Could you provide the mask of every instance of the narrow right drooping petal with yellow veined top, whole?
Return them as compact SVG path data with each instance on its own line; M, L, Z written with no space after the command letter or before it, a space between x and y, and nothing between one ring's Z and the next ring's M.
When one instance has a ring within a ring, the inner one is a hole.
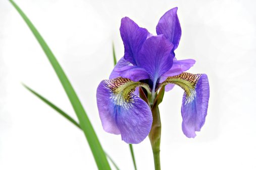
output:
M194 138L195 131L200 131L206 121L210 97L208 77L206 74L183 72L168 77L160 88L167 83L176 84L185 91L181 106L182 131L188 138Z

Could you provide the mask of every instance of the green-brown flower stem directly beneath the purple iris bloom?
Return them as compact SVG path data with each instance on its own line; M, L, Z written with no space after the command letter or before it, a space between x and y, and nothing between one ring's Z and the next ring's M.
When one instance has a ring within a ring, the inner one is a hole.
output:
M155 170L160 170L161 169L161 164L160 164L161 120L160 120L158 106L157 107L153 106L151 108L151 111L153 116L153 122L152 122L151 130L148 134L148 138L150 140L152 151L153 151Z

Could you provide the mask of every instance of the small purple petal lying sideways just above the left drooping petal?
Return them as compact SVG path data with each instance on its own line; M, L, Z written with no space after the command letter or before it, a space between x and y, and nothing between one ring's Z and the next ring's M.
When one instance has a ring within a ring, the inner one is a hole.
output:
M129 65L122 68L116 68L114 69L114 71L117 72L123 78L129 78L135 82L141 79L150 78L148 72L144 68L136 65Z

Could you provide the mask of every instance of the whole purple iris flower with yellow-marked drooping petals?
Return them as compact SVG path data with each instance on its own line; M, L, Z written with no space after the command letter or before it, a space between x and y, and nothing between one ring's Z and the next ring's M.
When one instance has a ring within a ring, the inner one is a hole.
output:
M177 7L166 12L157 25L157 36L140 28L128 17L121 20L120 34L124 43L124 56L113 69L110 79L97 88L99 117L106 132L121 134L126 143L140 143L150 132L151 107L158 91L175 85L185 92L181 115L182 131L196 136L203 126L209 101L209 82L206 74L191 74L188 70L195 60L177 60L181 27ZM138 96L141 88L148 101Z

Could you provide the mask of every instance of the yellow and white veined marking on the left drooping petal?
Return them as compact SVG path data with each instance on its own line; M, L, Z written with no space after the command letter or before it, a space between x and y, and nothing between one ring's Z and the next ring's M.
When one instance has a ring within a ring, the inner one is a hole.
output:
M104 81L104 86L110 91L110 100L117 105L129 109L134 103L134 95L132 92L135 88L142 86L148 88L148 85L142 82L134 82L128 78L117 77Z

